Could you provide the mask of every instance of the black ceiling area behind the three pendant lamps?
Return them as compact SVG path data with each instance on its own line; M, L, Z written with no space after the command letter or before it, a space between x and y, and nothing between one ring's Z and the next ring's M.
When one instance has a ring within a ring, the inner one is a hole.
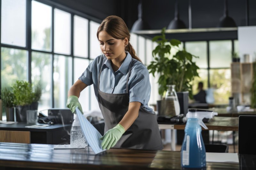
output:
M88 14L99 21L109 15L118 15L124 19L129 29L138 19L139 0L51 0L69 8ZM178 0L180 19L189 27L188 6L189 0ZM190 0L191 28L214 28L224 13L224 0ZM237 26L246 26L246 10L248 10L248 26L256 25L255 0L228 0L228 14ZM246 5L248 3L248 8ZM168 26L174 18L175 0L142 0L143 20L148 22L151 30L159 30ZM142 34L154 36L154 34ZM186 41L205 39L237 39L237 32L220 33L176 33L173 38Z

